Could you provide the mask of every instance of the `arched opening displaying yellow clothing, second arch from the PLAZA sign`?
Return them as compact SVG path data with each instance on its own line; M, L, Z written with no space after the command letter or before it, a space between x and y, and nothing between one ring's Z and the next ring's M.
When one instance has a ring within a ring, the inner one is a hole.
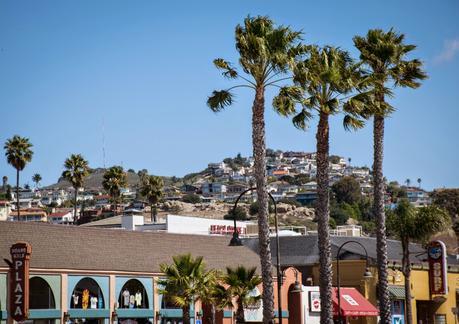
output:
M100 309L104 307L104 296L97 282L87 277L78 281L72 292L70 308Z

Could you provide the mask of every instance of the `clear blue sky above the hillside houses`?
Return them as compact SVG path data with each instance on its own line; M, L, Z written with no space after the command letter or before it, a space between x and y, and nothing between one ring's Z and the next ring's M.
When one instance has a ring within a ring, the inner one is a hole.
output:
M65 158L82 153L93 167L122 164L182 176L238 152L251 154L252 93L219 114L206 107L229 85L213 67L237 62L234 27L269 15L357 56L352 37L396 30L418 45L429 79L396 91L386 122L387 178L459 187L459 2L443 1L17 1L0 2L0 143L29 137L34 157L21 184L38 172L57 180ZM316 121L301 132L276 115L267 97L267 146L314 151ZM104 131L103 131L104 129ZM371 123L345 132L331 123L331 153L371 166ZM3 156L3 154L2 154ZM14 169L0 158L0 175Z

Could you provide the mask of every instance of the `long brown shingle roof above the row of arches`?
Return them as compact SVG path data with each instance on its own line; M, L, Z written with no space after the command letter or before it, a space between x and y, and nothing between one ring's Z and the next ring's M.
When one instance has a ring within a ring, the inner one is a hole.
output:
M204 256L208 268L260 268L256 253L228 246L228 237L0 222L0 260L17 241L32 245L31 268L158 273L161 263L185 253Z

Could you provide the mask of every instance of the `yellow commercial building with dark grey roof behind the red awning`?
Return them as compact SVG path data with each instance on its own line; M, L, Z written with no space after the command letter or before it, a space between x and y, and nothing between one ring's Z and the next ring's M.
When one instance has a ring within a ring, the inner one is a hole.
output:
M337 284L336 258L340 246L349 241L340 253L340 282L342 287L355 288L371 304L377 305L377 268L376 268L376 239L373 237L344 237L331 236L331 254L333 261L333 283ZM258 239L244 239L244 245L258 252ZM365 250L372 278L364 278L367 267ZM392 320L394 324L405 323L405 287L401 272L402 247L399 241L388 240L389 259L389 293L391 295ZM271 241L273 262L276 262L276 244ZM448 256L445 264L445 282L447 291L444 294L431 293L429 264L427 251L424 247L411 244L411 304L413 323L457 323L459 309L459 263L456 256ZM319 284L319 246L316 235L280 237L280 263L282 268L295 267L302 274L305 286ZM308 289L303 289L304 291ZM308 300L303 292L302 303L306 307ZM308 314L303 307L303 318ZM309 306L307 306L309 307ZM306 315L305 315L306 314ZM316 314L317 315L317 314ZM309 322L308 322L309 323ZM314 323L314 322L311 322ZM376 317L361 317L351 319L350 323L376 324Z

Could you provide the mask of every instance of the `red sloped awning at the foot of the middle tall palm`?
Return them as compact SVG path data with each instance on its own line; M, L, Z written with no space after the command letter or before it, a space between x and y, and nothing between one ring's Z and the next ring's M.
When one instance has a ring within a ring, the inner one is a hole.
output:
M338 316L338 288L333 288L333 315ZM355 288L341 288L342 316L378 316L379 311Z

